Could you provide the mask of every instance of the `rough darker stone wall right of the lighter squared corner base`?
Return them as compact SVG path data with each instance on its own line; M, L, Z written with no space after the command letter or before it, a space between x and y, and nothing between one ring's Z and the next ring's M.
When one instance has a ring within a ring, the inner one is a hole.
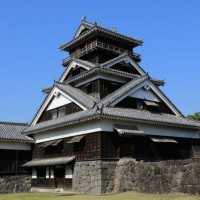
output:
M114 192L200 194L200 160L139 163L121 160L114 179Z

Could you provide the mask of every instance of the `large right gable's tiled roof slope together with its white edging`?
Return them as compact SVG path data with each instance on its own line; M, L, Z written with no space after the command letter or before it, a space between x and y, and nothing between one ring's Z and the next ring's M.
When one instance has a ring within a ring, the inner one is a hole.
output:
M143 76L136 80L130 81L126 85L122 86L114 93L108 95L104 99L102 99L99 104L103 104L104 106L115 106L123 99L130 95L137 94L138 90L141 88L145 88L146 90L150 90L152 94L154 94L160 101L164 102L165 105L176 115L183 116L181 112L170 102L170 100L148 79L147 76ZM149 96L150 98L150 96Z

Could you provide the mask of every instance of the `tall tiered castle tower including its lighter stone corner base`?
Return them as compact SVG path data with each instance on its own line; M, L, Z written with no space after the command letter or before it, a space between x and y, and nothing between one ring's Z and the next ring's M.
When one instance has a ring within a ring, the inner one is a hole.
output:
M184 117L160 89L164 81L142 69L133 51L139 45L84 19L60 47L69 52L65 70L44 89L46 98L23 131L35 141L23 165L32 188L109 193L119 191L123 163L199 157L200 123Z

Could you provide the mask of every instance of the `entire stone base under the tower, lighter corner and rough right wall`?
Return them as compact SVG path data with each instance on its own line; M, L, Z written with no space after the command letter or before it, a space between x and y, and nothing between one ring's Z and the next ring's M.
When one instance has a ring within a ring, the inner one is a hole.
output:
M200 194L200 159L76 162L72 185L75 192L90 194L125 191Z

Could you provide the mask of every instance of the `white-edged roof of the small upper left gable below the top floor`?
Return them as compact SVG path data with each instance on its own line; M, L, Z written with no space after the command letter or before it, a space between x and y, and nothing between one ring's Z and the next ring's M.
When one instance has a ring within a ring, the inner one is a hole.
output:
M95 64L85 62L85 61L81 61L79 59L73 59L70 62L70 64L68 65L67 69L63 72L62 76L59 79L59 82L63 82L65 80L65 78L67 77L67 75L70 73L70 71L77 66L82 67L86 70L89 70L92 67L95 67Z

